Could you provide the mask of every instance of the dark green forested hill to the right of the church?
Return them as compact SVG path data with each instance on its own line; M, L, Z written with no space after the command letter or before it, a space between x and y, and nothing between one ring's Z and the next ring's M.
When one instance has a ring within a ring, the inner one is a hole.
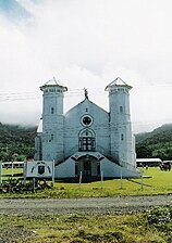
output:
M151 132L135 135L138 158L172 159L172 124L164 124Z

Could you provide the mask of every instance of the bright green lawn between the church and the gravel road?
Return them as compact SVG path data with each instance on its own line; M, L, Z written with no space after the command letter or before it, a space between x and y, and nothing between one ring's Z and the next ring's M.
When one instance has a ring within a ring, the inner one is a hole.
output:
M10 169L4 169L3 180L10 177ZM17 178L22 172L21 169L14 169L14 177ZM15 177L16 175L16 177ZM20 175L22 176L22 174ZM53 197L53 199L71 199L71 197L100 197L115 195L145 195L145 194L167 194L172 193L172 170L162 171L157 168L144 169L142 179L120 179L106 180L103 182L96 181L90 183L67 183L56 182L52 189L37 191L33 193L1 193L0 197Z

